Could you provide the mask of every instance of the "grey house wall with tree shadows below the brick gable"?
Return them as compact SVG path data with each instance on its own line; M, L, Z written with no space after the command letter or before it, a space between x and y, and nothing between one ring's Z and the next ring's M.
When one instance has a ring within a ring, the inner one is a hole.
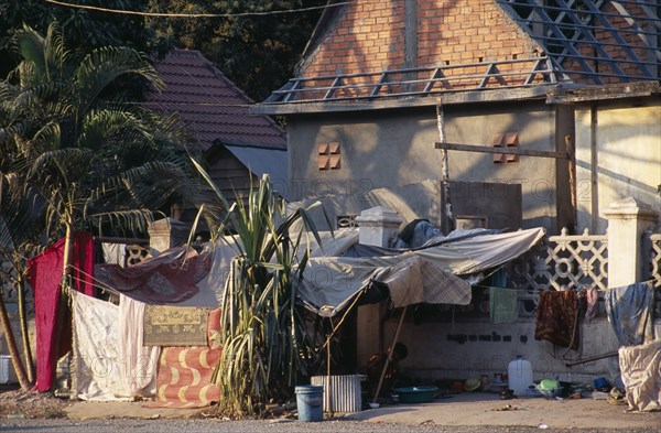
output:
M522 149L555 150L555 113L541 101L447 106L444 122L447 142L490 145L494 134L513 131ZM330 193L360 201L370 190L442 178L434 107L292 117L288 133L295 199ZM339 170L318 169L317 143L323 142L340 143ZM452 181L520 184L521 226L556 230L555 160L520 156L517 163L495 164L491 154L458 151L449 151L448 160Z

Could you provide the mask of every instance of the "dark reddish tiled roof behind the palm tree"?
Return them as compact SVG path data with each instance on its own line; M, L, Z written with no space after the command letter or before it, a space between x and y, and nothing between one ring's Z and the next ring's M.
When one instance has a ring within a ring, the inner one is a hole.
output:
M147 104L159 111L178 112L203 150L216 140L266 149L286 149L284 132L267 116L252 116L254 102L202 53L175 50L155 63L165 82L162 93L151 93Z

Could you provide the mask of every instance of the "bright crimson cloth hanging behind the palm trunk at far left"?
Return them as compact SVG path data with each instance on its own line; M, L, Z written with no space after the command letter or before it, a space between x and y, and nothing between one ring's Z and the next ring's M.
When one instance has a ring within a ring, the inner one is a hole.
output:
M59 282L64 267L64 243L61 239L50 249L29 260L30 283L34 290L36 327L36 385L34 390L46 392L53 386L57 359L72 346L72 323L68 305L61 302ZM93 295L93 238L90 234L75 235L73 255L74 288Z

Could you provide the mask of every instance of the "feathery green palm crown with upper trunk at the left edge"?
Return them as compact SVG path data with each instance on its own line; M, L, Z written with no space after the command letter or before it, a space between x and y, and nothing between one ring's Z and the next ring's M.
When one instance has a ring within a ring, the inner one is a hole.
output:
M181 123L118 91L127 77L163 87L143 54L104 47L77 58L57 23L45 36L24 28L15 46L22 62L0 80L0 199L28 199L31 212L0 215L6 225L40 219L42 241L66 237L63 281L77 229L143 232L175 195L202 201Z

